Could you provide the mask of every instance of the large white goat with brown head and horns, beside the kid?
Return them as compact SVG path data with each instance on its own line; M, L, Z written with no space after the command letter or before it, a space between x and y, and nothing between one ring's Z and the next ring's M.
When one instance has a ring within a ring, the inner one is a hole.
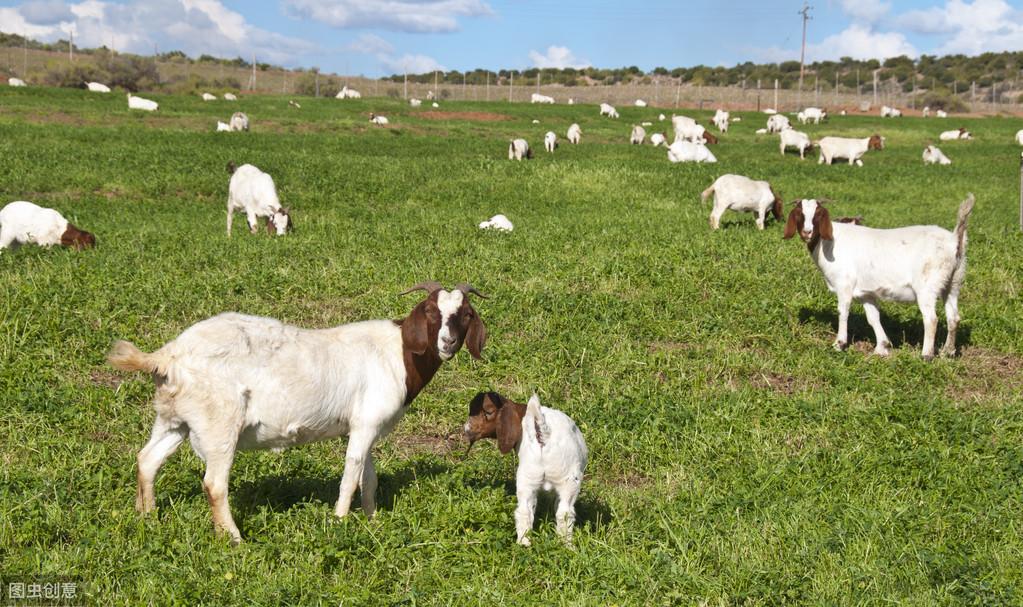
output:
M122 371L152 374L157 420L138 453L135 508L155 506L160 467L189 438L206 463L203 488L217 528L241 541L227 501L238 449L285 447L348 435L335 514L344 517L355 489L362 510L376 508L372 447L462 344L479 358L483 320L469 302L470 285L429 296L401 320L367 320L307 330L273 318L224 313L197 322L155 352L114 344L107 360Z

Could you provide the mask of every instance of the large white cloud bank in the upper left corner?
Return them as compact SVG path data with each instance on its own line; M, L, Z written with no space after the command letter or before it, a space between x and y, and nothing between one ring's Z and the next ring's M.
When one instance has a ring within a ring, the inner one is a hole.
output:
M315 47L249 24L219 0L148 0L121 4L101 0L26 2L15 8L0 8L0 29L26 33L52 41L73 30L82 46L108 46L119 51L150 53L180 49L197 55L250 56L273 62L287 62ZM61 16L58 24L52 19Z

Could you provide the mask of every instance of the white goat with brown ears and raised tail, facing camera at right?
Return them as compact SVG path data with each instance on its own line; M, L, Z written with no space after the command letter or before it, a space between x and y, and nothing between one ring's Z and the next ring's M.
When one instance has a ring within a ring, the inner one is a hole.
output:
M848 345L849 305L862 302L866 321L877 339L875 354L886 356L891 343L881 327L879 301L916 301L924 316L925 360L934 357L938 299L945 303L948 337L942 355L955 354L959 292L966 275L966 228L974 198L960 206L955 231L936 225L875 229L852 223L833 223L816 200L796 201L785 226L785 239L799 232L810 257L825 276L828 290L838 296L838 335L834 346Z

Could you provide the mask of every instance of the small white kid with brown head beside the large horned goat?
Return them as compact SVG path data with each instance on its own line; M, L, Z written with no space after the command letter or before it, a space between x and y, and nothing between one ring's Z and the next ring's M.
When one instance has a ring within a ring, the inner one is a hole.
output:
M529 546L533 513L540 489L558 493L558 534L572 544L575 501L579 496L589 453L582 432L572 418L540 406L533 394L527 404L511 401L496 392L480 392L469 404L464 426L469 446L483 438L496 438L497 448L507 453L518 447L515 527L519 544Z

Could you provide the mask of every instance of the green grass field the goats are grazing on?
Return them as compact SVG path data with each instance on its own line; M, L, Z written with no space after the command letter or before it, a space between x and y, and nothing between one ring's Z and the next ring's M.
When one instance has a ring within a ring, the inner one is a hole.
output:
M719 164L670 165L627 143L640 120L667 129L655 109L442 107L466 120L380 99L153 98L142 115L120 94L0 88L0 202L56 208L99 242L0 253L0 577L74 575L93 605L1023 604L1020 121L807 127L886 135L857 169L782 158L749 114ZM234 109L253 131L214 133ZM583 143L544 154L572 122ZM923 166L961 124L976 140ZM508 162L513 136L537 158ZM293 234L251 236L239 216L225 237L228 161L273 175ZM836 302L798 239L749 215L709 230L699 192L725 172L879 227L951 227L975 192L962 356L922 361L920 312L898 304L882 305L890 358L870 355L858 305L835 352ZM516 230L476 228L495 213ZM426 279L489 294L490 341L377 445L376 517L332 515L344 440L238 456L238 548L213 533L187 447L155 515L136 515L153 388L105 364L113 340L151 350L225 310L397 318L418 301L397 294ZM549 501L533 547L515 545L516 462L491 442L463 457L481 389L536 389L585 434L574 549Z

